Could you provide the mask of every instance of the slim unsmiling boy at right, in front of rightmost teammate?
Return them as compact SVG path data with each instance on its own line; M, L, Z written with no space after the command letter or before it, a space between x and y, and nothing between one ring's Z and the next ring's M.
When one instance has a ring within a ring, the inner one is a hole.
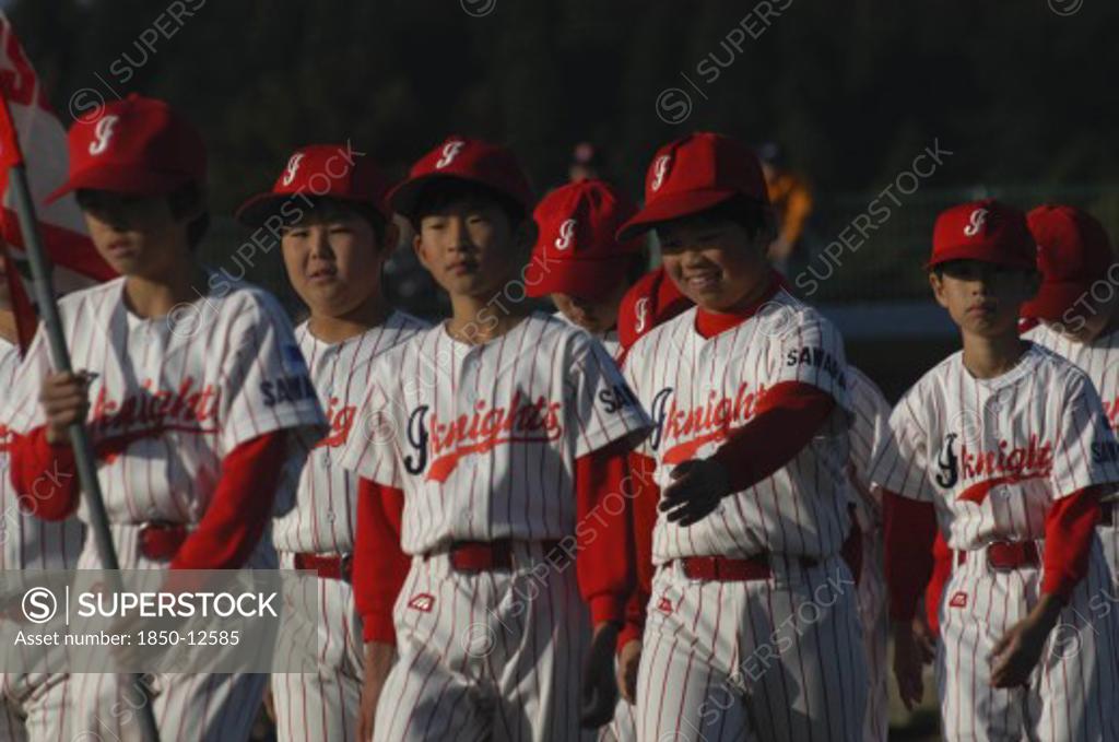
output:
M1018 337L1036 264L1016 209L940 215L929 280L963 349L899 402L872 476L906 706L923 692L912 619L938 525L952 550L937 658L949 740L1119 739L1112 619L1090 607L1110 586L1093 527L1119 443L1083 372Z

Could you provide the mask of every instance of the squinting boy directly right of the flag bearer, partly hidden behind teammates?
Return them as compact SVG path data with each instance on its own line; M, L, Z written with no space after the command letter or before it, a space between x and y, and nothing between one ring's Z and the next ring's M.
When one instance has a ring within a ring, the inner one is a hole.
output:
M427 327L393 310L380 291L397 238L386 191L368 157L312 144L288 158L271 191L237 210L250 227L280 217L288 280L310 310L295 339L330 424L300 475L295 507L272 526L280 567L319 575L286 595L294 613L286 614L276 650L285 665L299 666L302 657L317 673L272 676L280 740L358 734L365 651L350 588L358 481L333 459L354 434L373 359ZM308 627L317 640L308 641Z

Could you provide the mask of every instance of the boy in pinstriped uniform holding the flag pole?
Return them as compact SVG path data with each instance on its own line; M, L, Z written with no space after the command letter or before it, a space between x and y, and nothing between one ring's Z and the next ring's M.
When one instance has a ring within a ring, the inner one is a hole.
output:
M162 101L130 95L75 123L68 144L69 178L53 197L77 191L97 252L121 278L59 301L81 370L53 370L41 329L28 349L3 412L19 434L12 483L40 517L77 509L87 520L68 434L83 421L122 569L271 566L262 534L274 507L290 507L305 442L325 420L313 396L270 398L280 383L310 387L275 299L235 281L215 291L215 272L198 263L203 140ZM100 565L87 538L78 569ZM247 739L265 680L157 676L161 736ZM74 676L75 739L134 733L133 712L106 713L130 703L125 682Z

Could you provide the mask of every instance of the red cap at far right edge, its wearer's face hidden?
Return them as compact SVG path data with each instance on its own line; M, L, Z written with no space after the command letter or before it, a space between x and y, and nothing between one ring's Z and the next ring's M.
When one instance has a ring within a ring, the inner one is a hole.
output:
M1072 206L1038 206L1026 215L1037 242L1042 288L1023 306L1025 317L1059 320L1092 284L1106 279L1115 256L1107 229Z

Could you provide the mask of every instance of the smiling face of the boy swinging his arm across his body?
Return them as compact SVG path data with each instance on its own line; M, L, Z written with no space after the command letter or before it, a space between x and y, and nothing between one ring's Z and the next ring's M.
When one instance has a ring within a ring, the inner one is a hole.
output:
M665 271L700 309L733 310L769 280L764 229L753 237L728 219L678 219L657 227Z

